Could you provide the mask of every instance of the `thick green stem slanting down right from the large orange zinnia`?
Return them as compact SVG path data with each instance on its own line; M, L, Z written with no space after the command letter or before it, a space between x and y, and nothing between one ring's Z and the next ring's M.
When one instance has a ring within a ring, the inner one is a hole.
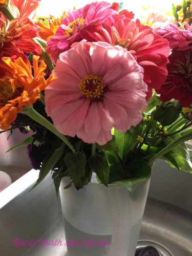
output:
M66 138L65 135L58 132L58 130L55 128L55 126L49 122L45 117L41 116L38 112L36 112L33 109L33 105L24 107L23 113L28 115L30 118L32 118L34 121L38 122L39 124L46 127L49 131L51 131L53 134L55 134L58 138L60 138L63 142L66 143L66 145L69 146L71 151L75 154L76 150L74 146L71 144L71 142Z

